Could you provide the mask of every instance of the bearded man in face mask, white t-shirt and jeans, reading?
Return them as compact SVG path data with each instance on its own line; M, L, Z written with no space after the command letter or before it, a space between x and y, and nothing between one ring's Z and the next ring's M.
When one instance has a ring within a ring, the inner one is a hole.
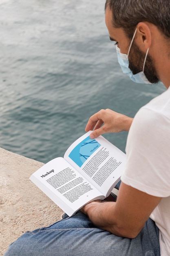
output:
M106 1L110 39L133 81L161 80L169 88L169 13L169 0ZM86 131L93 128L91 138L129 130L117 202L90 202L71 218L27 232L5 256L170 255L170 89L141 108L134 120L100 110Z

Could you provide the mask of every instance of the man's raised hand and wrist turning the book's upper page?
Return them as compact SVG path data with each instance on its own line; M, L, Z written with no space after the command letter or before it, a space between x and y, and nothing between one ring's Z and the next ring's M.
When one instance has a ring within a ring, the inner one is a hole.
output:
M94 129L90 136L91 139L94 139L107 132L129 131L132 121L133 118L131 117L127 117L110 109L102 109L90 117L85 131L88 132Z

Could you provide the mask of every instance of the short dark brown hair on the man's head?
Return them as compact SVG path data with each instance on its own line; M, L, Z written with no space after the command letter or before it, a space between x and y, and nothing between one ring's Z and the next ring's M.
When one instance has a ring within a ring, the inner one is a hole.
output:
M113 13L113 26L132 38L139 22L147 21L170 38L170 0L106 0Z

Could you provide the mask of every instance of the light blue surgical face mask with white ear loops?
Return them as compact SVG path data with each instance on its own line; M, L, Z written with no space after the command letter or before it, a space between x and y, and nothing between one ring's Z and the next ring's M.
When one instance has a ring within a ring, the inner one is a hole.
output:
M146 52L146 56L145 56L145 60L144 60L144 65L143 65L143 70L141 72L139 72L139 73L134 75L132 73L132 71L130 70L130 68L129 68L128 56L129 56L130 48L132 46L132 43L133 43L133 40L135 38L136 32L137 32L137 29L135 30L135 33L134 33L133 38L132 38L132 41L130 43L128 54L121 53L119 47L116 46L118 62L119 62L119 65L121 66L121 69L122 69L123 73L128 75L132 81L134 81L135 83L148 83L148 84L151 84L148 81L148 79L146 78L145 74L144 74L144 68L145 68L145 63L146 63L146 58L147 58L147 55L148 55L149 48L148 48L148 50Z

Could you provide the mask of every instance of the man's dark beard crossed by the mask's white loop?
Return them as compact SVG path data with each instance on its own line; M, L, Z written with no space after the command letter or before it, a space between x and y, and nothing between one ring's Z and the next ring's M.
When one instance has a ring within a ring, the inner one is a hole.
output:
M129 54L129 68L134 75L143 70L145 56L146 54L141 52L134 42ZM157 74L154 61L149 54L146 58L144 74L150 83L159 83L159 76Z

